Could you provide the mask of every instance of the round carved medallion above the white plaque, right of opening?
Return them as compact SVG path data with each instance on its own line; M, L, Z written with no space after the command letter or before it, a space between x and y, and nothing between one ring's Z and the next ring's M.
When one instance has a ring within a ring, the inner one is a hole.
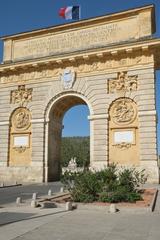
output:
M136 109L130 99L119 99L112 107L112 119L116 124L128 124L134 121Z

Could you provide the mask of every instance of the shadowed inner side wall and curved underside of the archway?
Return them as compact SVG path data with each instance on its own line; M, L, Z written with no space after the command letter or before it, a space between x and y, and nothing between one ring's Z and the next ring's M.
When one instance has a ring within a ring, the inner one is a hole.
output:
M63 120L67 111L78 105L88 107L88 104L83 98L74 95L67 95L58 99L50 108L48 125L47 181L56 181L60 178L60 173L62 171L61 145L64 127ZM73 124L73 122L71 124ZM80 128L80 126L77 125L77 128Z

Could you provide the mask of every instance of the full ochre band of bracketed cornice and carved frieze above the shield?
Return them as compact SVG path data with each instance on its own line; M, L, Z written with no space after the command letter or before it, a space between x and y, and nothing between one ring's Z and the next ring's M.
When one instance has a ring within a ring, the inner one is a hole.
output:
M150 39L79 54L1 64L0 84L57 79L65 68L74 69L77 76L91 76L128 68L155 67L158 66L158 49L160 39Z

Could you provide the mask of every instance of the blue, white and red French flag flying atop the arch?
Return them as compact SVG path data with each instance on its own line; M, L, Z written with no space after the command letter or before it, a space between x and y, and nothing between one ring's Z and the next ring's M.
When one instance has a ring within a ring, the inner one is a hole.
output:
M80 6L69 6L60 8L59 16L65 18L66 20L78 20L80 19Z

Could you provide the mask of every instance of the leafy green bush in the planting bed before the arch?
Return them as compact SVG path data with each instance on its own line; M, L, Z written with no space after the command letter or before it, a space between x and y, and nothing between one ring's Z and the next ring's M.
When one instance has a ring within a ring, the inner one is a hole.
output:
M119 170L115 164L101 171L65 172L62 182L75 202L135 202L142 200L138 191L147 176L135 168Z

